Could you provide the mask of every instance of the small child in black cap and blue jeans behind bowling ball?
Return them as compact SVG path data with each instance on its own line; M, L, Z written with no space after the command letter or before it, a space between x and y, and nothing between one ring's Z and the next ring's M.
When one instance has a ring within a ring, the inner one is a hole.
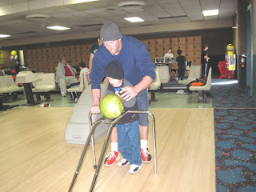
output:
M119 94L122 87L132 86L124 78L122 65L118 61L110 62L106 66L104 74L109 80L106 94L117 94L122 98ZM123 100L123 102L125 110L138 110L136 98L132 98L130 101ZM118 150L120 150L123 157L122 161L118 163L118 166L127 166L130 163L129 173L136 173L142 164L138 120L138 114L126 114L116 124L118 131Z

